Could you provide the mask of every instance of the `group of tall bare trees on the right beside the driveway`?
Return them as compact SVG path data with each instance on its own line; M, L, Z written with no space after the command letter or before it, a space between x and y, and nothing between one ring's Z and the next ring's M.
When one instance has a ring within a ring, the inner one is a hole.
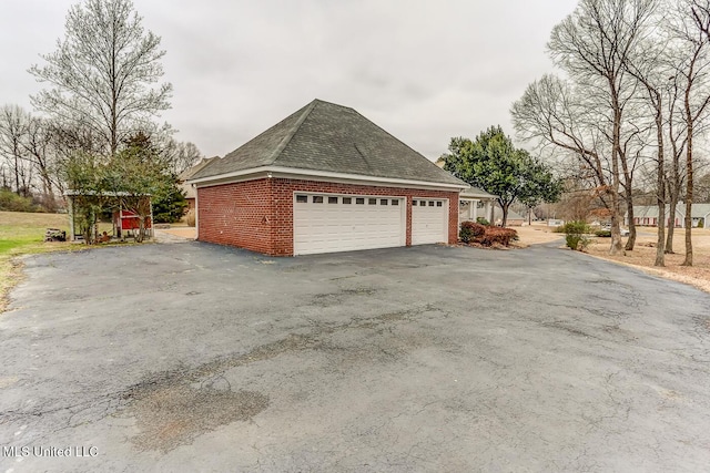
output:
M682 200L691 266L697 144L710 112L710 0L581 0L547 49L560 74L536 80L513 104L518 136L606 209L611 254L633 249L635 195L653 175L656 265L672 253Z

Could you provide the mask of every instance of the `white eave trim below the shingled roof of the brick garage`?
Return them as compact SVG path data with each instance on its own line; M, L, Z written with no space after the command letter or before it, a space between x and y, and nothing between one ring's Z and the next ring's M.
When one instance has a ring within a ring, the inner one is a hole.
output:
M343 184L361 184L369 186L414 187L424 189L449 189L462 192L466 185L433 183L427 181L399 179L395 177L365 176L362 174L332 173L328 171L296 169L282 166L261 166L251 169L236 171L216 176L187 179L189 184L203 184L201 187L231 184L240 181L256 179L261 177L283 177L310 181L325 181Z

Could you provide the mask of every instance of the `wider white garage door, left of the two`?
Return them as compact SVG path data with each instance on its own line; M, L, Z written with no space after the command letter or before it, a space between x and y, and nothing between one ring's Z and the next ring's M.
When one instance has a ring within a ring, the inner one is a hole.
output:
M402 197L295 193L293 253L404 246L404 203Z

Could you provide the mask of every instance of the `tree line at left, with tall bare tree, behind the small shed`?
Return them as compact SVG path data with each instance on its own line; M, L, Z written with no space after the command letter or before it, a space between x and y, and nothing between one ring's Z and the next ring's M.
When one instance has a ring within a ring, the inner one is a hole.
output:
M176 176L201 153L158 122L172 96L172 85L162 81L160 43L130 0L71 7L57 50L29 69L43 85L30 97L34 111L0 107L0 186L49 210L62 205L67 191L176 197ZM135 173L120 165L129 162L142 166L138 187L126 178ZM109 182L105 175L121 175L116 168L124 178L99 188Z

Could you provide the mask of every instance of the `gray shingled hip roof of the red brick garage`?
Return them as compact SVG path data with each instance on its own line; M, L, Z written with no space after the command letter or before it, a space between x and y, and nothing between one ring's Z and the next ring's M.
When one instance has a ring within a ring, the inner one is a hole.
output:
M468 185L355 110L314 100L191 176L200 179L262 166Z

